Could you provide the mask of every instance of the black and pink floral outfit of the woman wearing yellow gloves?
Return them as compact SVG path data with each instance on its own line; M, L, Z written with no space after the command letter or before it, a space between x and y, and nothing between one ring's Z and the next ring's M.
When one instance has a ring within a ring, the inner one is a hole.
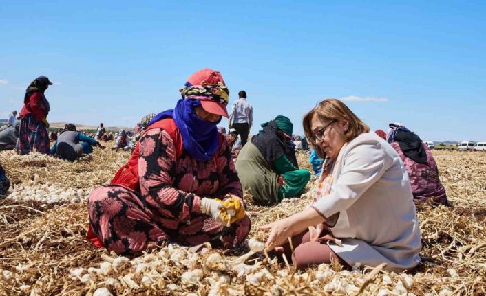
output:
M193 159L165 131L147 130L140 138L140 192L119 185L97 187L88 199L89 223L109 251L136 253L149 244L178 242L237 247L249 234L247 216L230 227L200 213L203 197L242 198L231 147L220 141L209 161Z

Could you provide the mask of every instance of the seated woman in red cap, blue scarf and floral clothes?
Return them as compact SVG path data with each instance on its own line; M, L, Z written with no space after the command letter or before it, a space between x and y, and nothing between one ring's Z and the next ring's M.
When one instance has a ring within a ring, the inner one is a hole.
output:
M233 248L249 234L231 148L216 127L228 117L224 80L202 69L181 91L176 109L152 119L112 184L89 196L95 245L116 253L164 242Z

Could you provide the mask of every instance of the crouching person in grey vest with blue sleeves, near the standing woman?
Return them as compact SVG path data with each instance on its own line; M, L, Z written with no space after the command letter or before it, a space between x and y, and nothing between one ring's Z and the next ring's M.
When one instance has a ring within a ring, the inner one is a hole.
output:
M74 161L83 154L92 153L93 146L105 148L92 137L77 132L74 124L66 124L57 141L52 145L50 152L51 155L61 159Z

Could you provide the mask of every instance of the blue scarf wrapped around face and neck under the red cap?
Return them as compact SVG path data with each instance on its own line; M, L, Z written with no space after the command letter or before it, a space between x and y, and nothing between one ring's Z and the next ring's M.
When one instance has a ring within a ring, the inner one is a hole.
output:
M198 115L194 109L201 106L200 100L181 99L176 109L169 109L158 113L151 120L149 126L159 120L172 118L182 135L182 144L191 157L200 161L212 159L218 150L218 122L209 122Z

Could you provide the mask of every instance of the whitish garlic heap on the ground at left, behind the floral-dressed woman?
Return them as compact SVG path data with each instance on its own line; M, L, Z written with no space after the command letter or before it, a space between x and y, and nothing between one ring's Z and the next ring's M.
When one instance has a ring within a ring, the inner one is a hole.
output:
M13 185L8 199L17 203L25 201L39 201L51 203L79 203L87 200L90 190L66 188L60 184L39 183L39 175L34 174L34 181Z

